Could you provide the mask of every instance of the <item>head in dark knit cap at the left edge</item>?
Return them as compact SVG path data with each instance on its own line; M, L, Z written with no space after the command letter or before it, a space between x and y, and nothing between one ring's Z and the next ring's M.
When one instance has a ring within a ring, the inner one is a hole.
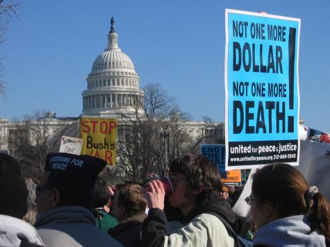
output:
M28 211L27 198L19 162L0 153L0 214L22 219Z

